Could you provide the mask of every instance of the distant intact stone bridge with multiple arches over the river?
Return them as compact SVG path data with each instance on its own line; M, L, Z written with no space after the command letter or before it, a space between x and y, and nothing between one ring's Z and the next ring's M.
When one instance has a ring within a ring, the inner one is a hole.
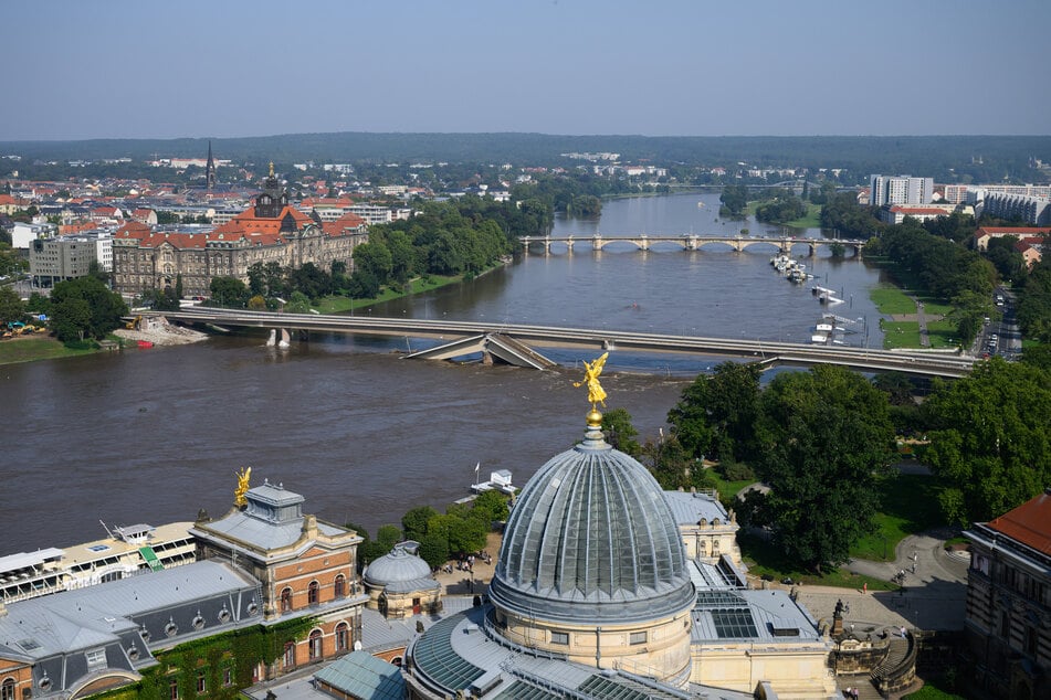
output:
M843 247L853 251L854 257L861 257L861 251L865 245L865 241L856 241L852 238L799 238L792 236L784 237L773 237L773 236L702 236L694 235L692 233L684 233L680 236L650 236L644 233L639 235L612 235L606 236L599 233L590 236L522 236L518 238L522 241L522 245L526 253L529 253L530 247L543 247L544 253L551 252L551 245L561 244L565 245L569 253L574 252L575 247L581 247L590 251L601 251L608 245L613 243L629 243L635 246L639 251L649 251L653 245L656 244L670 244L677 246L683 251L700 251L707 245L726 245L733 248L737 253L743 253L749 247L753 246L774 246L780 253L790 255L796 246L807 246L807 254L813 256L817 253L817 250L821 246L831 246L834 244L842 245Z

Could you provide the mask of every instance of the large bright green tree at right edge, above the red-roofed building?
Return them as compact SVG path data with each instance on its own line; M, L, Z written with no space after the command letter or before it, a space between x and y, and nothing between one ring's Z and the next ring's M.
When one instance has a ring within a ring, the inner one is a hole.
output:
M961 524L1002 515L1051 484L1051 374L992 358L923 404L922 458L948 482L945 516Z

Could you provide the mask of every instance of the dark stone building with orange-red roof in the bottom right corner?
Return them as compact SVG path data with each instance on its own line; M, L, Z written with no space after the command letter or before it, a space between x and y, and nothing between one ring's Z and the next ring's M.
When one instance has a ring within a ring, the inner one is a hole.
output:
M994 697L1051 697L1051 489L964 534L966 668Z

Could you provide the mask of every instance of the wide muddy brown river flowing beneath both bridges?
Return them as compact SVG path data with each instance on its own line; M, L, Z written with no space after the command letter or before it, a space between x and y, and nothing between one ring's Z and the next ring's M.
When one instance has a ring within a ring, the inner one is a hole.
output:
M554 233L765 229L716 221L717 212L717 194L617 200L599 221L559 220ZM775 274L773 248L658 248L530 254L364 312L800 342L822 310L806 286ZM879 271L827 253L807 265L842 289L837 312L865 319L858 327L866 322L877 346L866 291ZM483 478L506 468L521 486L580 438L588 406L571 385L582 374L574 365L593 352L544 349L566 364L555 372L392 352L419 342L318 336L280 353L262 337L232 336L0 367L0 555L103 537L98 520L221 515L243 466L253 484L266 478L303 494L305 512L375 534L413 506L442 509L465 496L477 463ZM642 436L655 437L685 382L715 361L613 352L603 374L610 407L627 409Z

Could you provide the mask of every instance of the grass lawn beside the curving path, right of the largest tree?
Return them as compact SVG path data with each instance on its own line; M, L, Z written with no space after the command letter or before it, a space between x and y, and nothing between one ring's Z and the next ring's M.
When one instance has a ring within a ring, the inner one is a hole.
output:
M934 477L901 474L882 485L883 507L875 513L876 532L850 550L855 559L893 561L894 548L907 534L944 524Z

